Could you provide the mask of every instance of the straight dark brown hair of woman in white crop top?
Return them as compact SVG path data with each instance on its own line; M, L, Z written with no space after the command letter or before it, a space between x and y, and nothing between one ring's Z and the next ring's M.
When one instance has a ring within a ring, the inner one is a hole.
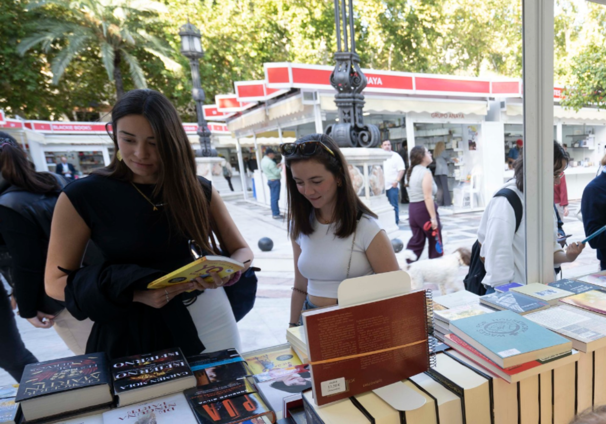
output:
M301 234L308 236L313 233L311 227L311 213L314 208L305 199L297 188L293 172L290 169L292 164L301 161L316 161L324 165L327 171L330 171L335 176L336 181L341 181L341 185L337 185L337 198L335 202L335 210L333 211L332 221L335 223L335 236L344 239L349 237L356 230L356 220L358 212L377 217L353 190L351 177L347 167L347 161L339 146L330 137L324 134L309 134L296 141L297 144L306 141L319 141L335 153L335 156L328 153L324 148L317 148L316 153L312 156L301 156L299 151L293 156L288 156L286 162L286 193L288 202L288 234L292 240L298 239Z

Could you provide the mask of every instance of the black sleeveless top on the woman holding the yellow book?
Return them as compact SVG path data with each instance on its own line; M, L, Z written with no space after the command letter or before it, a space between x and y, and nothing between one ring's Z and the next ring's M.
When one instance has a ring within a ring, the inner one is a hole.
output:
M211 182L198 177L210 203ZM153 203L153 184L136 184ZM192 260L189 237L170 222L166 207L157 211L130 182L91 175L71 182L64 193L91 230L91 239L110 263L132 263L166 273ZM177 205L178 206L178 205Z

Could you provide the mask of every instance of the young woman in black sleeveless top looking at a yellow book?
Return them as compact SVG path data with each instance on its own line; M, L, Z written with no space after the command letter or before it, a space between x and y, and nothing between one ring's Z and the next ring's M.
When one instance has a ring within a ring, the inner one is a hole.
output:
M59 196L47 293L59 300L67 296L76 317L95 322L89 353L102 349L118 357L175 346L185 354L239 349L222 287L239 274L145 290L148 282L191 262L189 240L218 253L211 226L224 242L221 250L248 261L247 266L253 259L221 197L209 181L196 177L193 150L175 107L156 91L129 91L113 108L111 124L116 154L110 165L72 182ZM88 238L107 262L78 270ZM188 330L192 321L197 337Z

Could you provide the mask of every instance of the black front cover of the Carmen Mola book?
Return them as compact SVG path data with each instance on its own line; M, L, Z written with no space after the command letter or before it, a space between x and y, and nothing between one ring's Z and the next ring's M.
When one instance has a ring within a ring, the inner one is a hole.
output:
M181 349L127 356L112 361L115 394L193 376Z

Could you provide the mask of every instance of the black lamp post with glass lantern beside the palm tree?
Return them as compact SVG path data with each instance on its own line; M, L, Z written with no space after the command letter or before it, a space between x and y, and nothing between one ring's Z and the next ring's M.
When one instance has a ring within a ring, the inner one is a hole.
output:
M191 96L196 102L196 114L198 114L200 150L196 150L196 156L217 156L217 151L210 147L210 130L208 130L208 125L204 119L204 111L202 110L206 95L200 85L200 70L198 66L198 60L204 58L204 50L202 50L202 43L200 42L200 31L190 24L189 19L187 19L187 24L179 28L179 35L181 36L181 53L190 59L191 82L193 82Z

